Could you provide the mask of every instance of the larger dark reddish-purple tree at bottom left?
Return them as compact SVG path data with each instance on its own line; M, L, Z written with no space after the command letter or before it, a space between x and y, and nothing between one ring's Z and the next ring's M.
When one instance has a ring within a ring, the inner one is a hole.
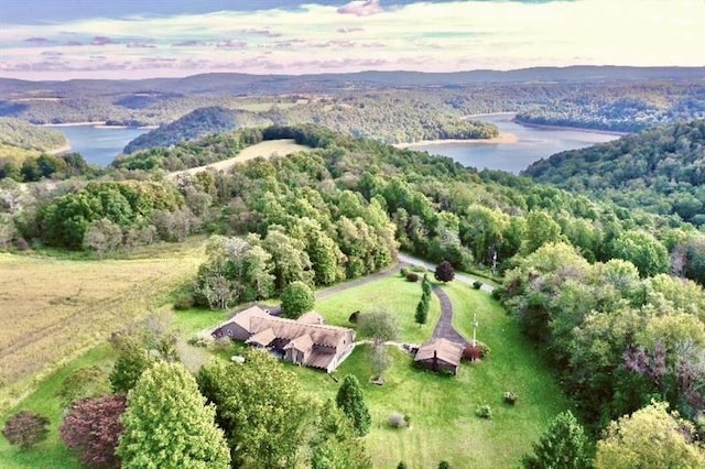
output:
M120 417L124 408L124 394L76 401L59 428L62 440L88 467L119 468L116 449L122 435Z

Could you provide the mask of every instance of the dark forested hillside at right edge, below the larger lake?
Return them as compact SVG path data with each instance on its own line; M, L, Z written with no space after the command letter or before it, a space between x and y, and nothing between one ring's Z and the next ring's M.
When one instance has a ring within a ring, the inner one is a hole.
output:
M525 175L628 208L705 223L705 120L662 126L558 153Z

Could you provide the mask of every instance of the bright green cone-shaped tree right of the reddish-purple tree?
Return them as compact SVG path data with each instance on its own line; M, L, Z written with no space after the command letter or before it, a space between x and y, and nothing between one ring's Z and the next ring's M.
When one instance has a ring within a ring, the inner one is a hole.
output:
M158 362L128 395L117 455L130 468L229 468L215 408L178 363Z

